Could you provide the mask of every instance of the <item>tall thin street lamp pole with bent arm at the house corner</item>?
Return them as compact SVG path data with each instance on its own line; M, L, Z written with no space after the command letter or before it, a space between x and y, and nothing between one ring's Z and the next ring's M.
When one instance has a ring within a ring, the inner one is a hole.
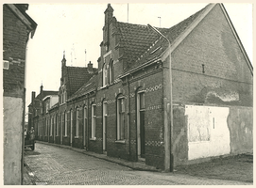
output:
M173 79L172 79L172 59L171 59L171 42L167 39L162 33L156 29L155 27L147 24L149 28L151 28L158 35L162 36L163 39L166 39L168 42L168 54L169 54L169 103L164 99L164 114L167 115L166 118L164 116L164 148L165 148L165 156L164 156L164 170L173 172L174 167L174 159L173 159ZM166 112L165 112L166 111ZM169 115L169 116L168 116Z

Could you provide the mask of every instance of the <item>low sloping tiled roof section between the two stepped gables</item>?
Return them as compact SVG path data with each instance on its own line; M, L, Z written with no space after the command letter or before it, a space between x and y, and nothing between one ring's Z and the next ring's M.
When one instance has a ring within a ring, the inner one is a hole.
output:
M76 93L74 93L68 101L72 101L74 99L77 99L86 93L94 90L96 88L96 80L97 80L97 75L94 75L87 83L85 83L83 86L81 86Z

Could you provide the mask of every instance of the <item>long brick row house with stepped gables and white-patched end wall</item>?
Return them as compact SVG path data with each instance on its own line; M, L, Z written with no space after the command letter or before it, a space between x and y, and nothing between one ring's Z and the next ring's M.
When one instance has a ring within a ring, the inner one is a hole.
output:
M72 77L63 57L59 102L48 123L34 121L39 140L166 171L252 151L253 69L223 4L171 28L118 22L110 4L104 13L98 69Z

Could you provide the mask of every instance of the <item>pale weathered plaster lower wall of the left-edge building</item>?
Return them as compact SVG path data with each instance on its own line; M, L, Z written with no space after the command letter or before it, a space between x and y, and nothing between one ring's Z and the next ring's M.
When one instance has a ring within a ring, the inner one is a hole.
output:
M4 97L4 184L22 182L23 100Z

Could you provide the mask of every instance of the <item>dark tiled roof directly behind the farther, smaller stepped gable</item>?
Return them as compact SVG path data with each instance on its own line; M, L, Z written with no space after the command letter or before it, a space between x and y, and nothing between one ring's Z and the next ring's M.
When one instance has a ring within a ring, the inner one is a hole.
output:
M67 76L68 76L68 95L72 96L77 89L82 86L84 83L86 83L90 77L91 74L88 73L87 68L82 67L66 67L67 68Z

